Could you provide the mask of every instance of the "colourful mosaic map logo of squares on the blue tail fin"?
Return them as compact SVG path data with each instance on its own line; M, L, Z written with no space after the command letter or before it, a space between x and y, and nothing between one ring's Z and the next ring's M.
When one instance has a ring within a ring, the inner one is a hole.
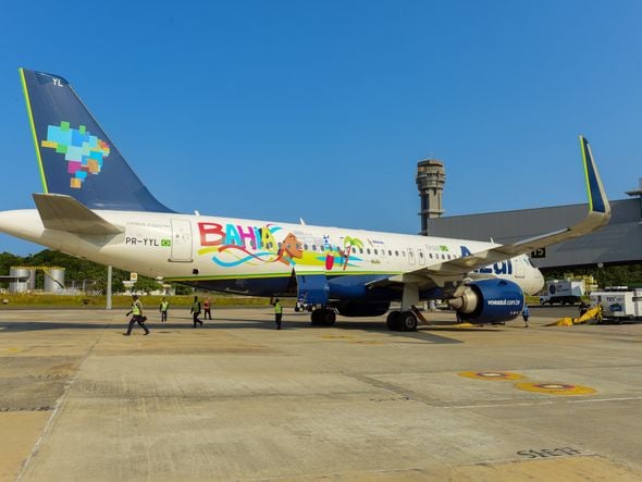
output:
M47 140L41 145L64 155L67 172L73 174L71 187L74 189L83 187L87 174L100 173L102 158L109 156L109 145L104 140L92 136L84 125L71 128L64 121L47 126Z

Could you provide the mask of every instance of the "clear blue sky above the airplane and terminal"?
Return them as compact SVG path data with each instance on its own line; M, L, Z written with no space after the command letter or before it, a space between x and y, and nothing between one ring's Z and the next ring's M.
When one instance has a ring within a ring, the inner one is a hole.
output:
M183 212L417 233L427 157L446 215L583 202L579 134L612 199L642 176L639 1L61 5L2 7L2 210L41 190L20 66Z

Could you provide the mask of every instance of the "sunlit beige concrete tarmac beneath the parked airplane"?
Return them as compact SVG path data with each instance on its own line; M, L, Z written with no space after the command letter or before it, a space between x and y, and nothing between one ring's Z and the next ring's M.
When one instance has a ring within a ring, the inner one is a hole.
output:
M0 480L642 480L642 324L561 311L395 333L214 307L125 337L124 310L1 310Z

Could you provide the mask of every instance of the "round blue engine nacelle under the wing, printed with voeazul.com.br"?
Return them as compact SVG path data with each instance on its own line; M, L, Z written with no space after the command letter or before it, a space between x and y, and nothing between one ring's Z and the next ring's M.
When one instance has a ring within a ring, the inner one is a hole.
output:
M523 309L521 288L507 280L481 280L468 283L457 298L448 300L462 320L493 323L515 320Z

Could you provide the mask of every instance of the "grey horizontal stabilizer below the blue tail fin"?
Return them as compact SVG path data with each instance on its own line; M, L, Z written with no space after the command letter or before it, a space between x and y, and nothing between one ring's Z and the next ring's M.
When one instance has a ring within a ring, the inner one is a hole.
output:
M71 196L34 194L42 225L48 230L86 235L119 234L124 230L100 218Z

